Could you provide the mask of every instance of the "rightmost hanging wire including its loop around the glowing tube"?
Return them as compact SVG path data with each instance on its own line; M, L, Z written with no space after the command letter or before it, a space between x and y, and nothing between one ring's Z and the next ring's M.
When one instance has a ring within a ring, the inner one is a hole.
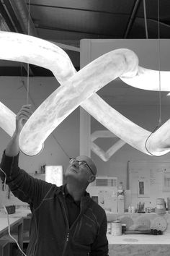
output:
M143 7L144 7L144 2L145 0L143 0ZM160 14L159 14L159 0L157 1L158 4L158 86L159 86L159 119L158 119L158 125L156 126L155 129L153 129L153 131L151 132L151 135L153 134L153 132L156 132L156 130L161 127L161 61L160 61L160 56L161 56L161 44L160 44ZM146 8L146 5L145 5ZM148 148L147 148L147 142L148 139L151 137L151 135L148 136L148 138L146 139L146 143L145 143L145 147L148 153L150 153L151 155L153 155L151 152L149 152ZM158 156L158 155L153 155L153 156Z

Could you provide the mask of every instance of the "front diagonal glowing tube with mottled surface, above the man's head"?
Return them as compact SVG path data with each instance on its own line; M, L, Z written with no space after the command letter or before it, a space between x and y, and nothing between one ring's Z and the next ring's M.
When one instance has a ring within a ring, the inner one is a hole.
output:
M125 62L128 55L130 65ZM136 72L135 60L138 59L130 50L111 51L74 74L37 108L24 125L20 135L22 151L27 155L39 153L48 135L83 101L120 74Z

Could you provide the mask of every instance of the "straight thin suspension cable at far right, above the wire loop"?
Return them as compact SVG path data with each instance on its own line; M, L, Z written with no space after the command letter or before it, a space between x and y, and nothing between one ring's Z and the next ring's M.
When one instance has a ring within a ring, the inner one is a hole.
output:
M159 120L161 125L161 44L160 44L160 14L159 14L159 0L158 0L158 85L159 85Z

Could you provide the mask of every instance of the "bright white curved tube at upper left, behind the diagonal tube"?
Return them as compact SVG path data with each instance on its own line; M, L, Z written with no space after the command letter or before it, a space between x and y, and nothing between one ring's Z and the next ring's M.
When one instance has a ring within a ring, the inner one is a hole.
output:
M30 35L0 31L0 59L21 61L50 69L61 84L76 74L60 47Z

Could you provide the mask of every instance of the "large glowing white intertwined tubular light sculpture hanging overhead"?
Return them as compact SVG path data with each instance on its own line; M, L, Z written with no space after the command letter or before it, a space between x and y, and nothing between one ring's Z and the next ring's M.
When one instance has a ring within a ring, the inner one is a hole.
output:
M50 69L61 83L24 125L19 145L25 154L39 153L50 133L79 105L117 137L143 153L164 155L170 151L169 121L151 135L151 132L126 119L96 94L97 90L116 77L120 77L129 85L138 81L136 87L140 89L159 90L158 78L152 83L150 80L154 79L155 74L158 77L158 71L139 67L138 57L133 51L110 51L76 72L68 55L48 41L29 35L0 32L0 46L0 59L45 67ZM170 72L161 72L161 77L162 74L170 79ZM145 85L143 77L146 79ZM165 80L161 81L161 90L169 91ZM3 129L7 130L6 127ZM145 147L149 135L151 137L148 139L147 148L150 153Z

